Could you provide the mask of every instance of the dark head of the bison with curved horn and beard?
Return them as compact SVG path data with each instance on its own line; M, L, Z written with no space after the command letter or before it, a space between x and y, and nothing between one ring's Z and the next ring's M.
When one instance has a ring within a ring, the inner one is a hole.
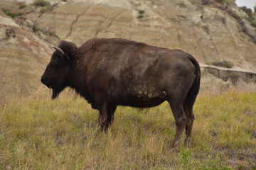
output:
M41 82L53 89L52 98L56 98L66 86L70 77L73 52L77 49L73 42L61 41L41 77Z

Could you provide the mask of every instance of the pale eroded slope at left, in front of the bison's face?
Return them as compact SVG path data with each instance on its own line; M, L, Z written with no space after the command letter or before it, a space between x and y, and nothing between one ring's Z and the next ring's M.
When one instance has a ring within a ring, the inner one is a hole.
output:
M0 98L5 100L38 89L40 75L53 50L33 32L2 16L0 35Z

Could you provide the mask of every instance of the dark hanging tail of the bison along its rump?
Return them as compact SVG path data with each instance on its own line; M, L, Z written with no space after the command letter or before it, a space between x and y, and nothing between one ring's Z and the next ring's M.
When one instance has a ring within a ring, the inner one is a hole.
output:
M200 71L200 65L198 64L198 62L196 61L196 59L193 56L189 55L188 59L192 62L192 64L196 68L196 70L195 70L196 79L194 80L194 82L191 86L191 89L188 91L188 94L183 103L183 106L186 107L186 109L188 109L188 111L189 111L189 114L191 116L193 116L192 109L193 109L193 104L196 101L196 96L198 95L198 92L200 89L201 71Z

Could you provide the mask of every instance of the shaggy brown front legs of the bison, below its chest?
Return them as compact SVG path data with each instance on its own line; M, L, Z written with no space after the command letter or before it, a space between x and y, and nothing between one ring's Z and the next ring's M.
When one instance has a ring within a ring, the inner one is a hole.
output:
M101 130L106 131L110 127L114 120L114 111L116 108L117 106L112 105L108 100L102 103L99 109L100 115L98 120Z

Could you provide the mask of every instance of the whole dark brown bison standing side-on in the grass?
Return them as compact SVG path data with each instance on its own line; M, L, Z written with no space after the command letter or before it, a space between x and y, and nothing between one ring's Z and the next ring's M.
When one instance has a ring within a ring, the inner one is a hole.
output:
M117 106L146 108L168 101L176 121L172 146L184 128L185 142L190 142L201 79L192 55L121 38L92 38L80 47L61 40L54 48L41 77L53 89L53 99L65 87L75 89L99 111L104 130L112 124Z

